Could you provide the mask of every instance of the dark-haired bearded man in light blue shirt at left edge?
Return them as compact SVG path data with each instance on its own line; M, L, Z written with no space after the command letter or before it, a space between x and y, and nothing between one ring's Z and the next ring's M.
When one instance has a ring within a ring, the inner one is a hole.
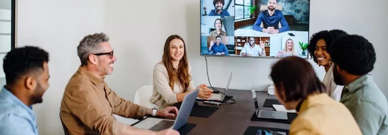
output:
M31 105L43 101L48 88L48 53L38 47L16 48L4 57L6 86L0 91L0 134L37 135Z

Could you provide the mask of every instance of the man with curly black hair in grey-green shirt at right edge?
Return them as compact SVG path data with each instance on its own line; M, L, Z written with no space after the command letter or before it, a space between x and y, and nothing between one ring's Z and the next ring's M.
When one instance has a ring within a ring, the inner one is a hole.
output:
M376 61L372 43L359 35L343 35L330 49L334 82L344 85L341 100L363 134L388 134L388 103L370 75Z

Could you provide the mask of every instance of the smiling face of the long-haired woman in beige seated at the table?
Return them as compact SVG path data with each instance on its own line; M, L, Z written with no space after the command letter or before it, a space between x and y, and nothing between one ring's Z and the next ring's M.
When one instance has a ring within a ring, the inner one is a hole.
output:
M170 56L172 60L179 61L184 55L184 43L180 39L173 39L170 42Z

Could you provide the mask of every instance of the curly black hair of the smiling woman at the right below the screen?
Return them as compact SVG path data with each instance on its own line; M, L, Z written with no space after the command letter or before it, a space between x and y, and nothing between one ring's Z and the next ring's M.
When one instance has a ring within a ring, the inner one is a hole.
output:
M343 30L340 30L340 29L334 29L334 30L330 30L330 31L322 30L322 31L319 31L317 33L312 34L312 36L310 38L310 43L307 46L307 50L308 50L308 53L310 54L311 58L314 60L314 62L318 63L318 60L316 59L316 57L314 55L316 43L318 42L318 40L324 39L326 42L326 50L330 50L330 48L332 47L333 41L335 39L337 39L338 37L340 37L341 35L346 35L346 34L348 34L348 33L346 33ZM329 51L328 51L328 53L330 54Z

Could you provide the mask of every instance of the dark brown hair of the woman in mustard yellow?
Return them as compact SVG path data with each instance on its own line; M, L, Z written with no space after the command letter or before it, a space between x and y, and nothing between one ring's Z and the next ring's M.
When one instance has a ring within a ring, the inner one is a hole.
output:
M279 97L285 102L306 99L315 93L326 93L326 87L315 74L311 64L298 56L287 56L280 59L272 66L272 81L277 88L284 88L285 97ZM282 93L277 89L278 93Z

